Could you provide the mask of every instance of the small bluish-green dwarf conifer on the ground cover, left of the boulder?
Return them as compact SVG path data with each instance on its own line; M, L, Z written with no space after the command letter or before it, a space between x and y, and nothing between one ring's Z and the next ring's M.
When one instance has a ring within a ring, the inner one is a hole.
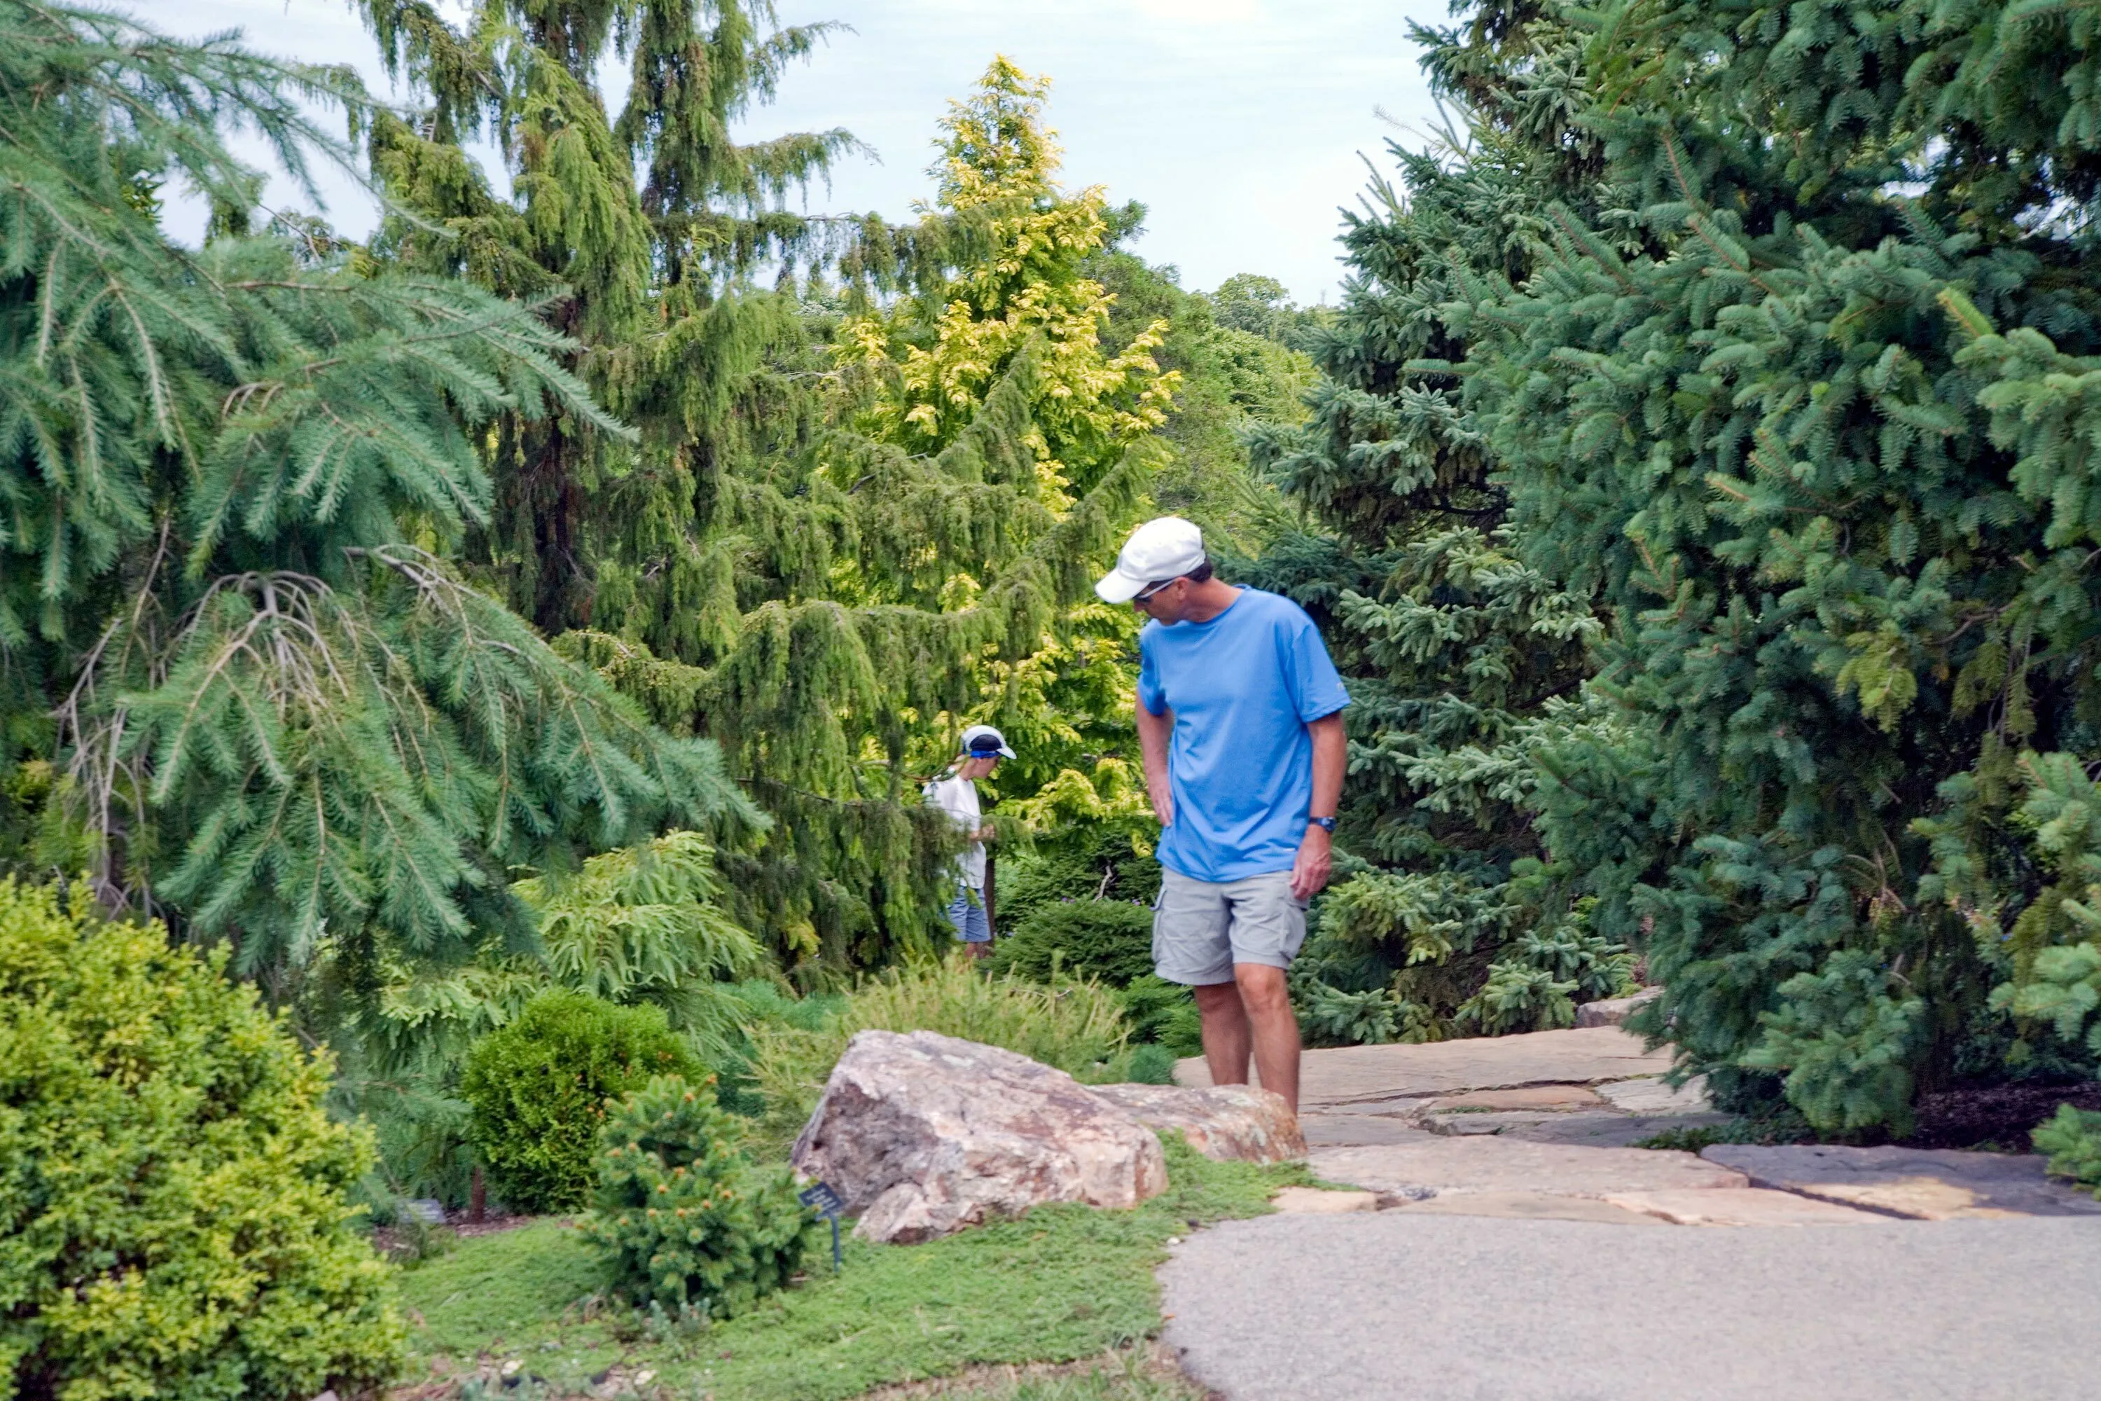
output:
M754 1168L712 1088L679 1075L628 1094L599 1138L586 1235L635 1304L727 1317L773 1294L809 1246L786 1168Z

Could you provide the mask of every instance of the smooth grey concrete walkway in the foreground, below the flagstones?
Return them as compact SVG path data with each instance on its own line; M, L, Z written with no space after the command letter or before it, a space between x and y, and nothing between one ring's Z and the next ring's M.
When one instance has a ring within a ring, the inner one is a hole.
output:
M1263 1216L1162 1269L1229 1401L2084 1401L2101 1220Z

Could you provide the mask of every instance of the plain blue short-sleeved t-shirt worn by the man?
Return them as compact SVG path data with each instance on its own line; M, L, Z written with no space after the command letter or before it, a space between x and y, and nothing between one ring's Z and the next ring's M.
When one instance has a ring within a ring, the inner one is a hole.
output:
M1305 609L1242 588L1210 622L1145 624L1139 704L1174 712L1160 863L1191 880L1288 872L1313 804L1307 725L1349 704Z

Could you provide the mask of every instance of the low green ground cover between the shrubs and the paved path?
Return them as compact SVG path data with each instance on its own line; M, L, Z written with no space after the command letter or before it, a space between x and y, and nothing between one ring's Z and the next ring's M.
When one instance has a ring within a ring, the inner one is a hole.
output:
M420 1323L420 1359L469 1367L477 1357L521 1359L550 1390L582 1388L618 1363L681 1397L714 1401L840 1401L887 1382L962 1372L977 1363L1057 1363L1099 1357L1160 1327L1153 1267L1166 1241L1193 1225L1258 1216L1269 1195L1311 1185L1303 1166L1214 1164L1166 1141L1168 1191L1128 1212L1046 1206L1019 1220L927 1246L847 1239L845 1269L826 1254L809 1279L758 1309L704 1330L649 1327L597 1309L597 1267L582 1233L540 1222L460 1241L401 1273ZM1122 1390L1105 1386L1122 1386ZM1174 1397L1145 1376L1040 1378L1032 1390L962 1395L1015 1401ZM1065 1390L1059 1390L1063 1386ZM1072 1390L1078 1386L1080 1390ZM1093 1390L1088 1390L1093 1388Z

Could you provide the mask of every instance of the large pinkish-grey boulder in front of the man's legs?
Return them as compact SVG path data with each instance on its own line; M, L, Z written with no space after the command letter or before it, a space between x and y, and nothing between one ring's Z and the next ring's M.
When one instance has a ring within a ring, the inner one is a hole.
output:
M872 1241L927 1241L1046 1201L1166 1189L1160 1138L1065 1071L935 1031L861 1031L792 1155Z

